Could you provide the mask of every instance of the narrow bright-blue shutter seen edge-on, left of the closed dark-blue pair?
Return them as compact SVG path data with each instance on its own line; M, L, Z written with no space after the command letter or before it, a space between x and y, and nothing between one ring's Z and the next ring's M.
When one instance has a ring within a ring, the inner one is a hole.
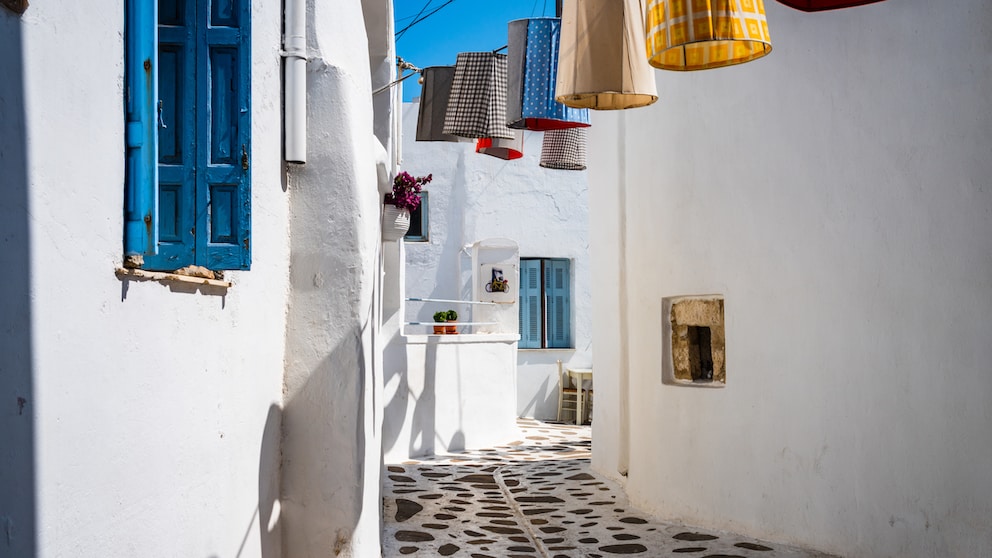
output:
M145 0L128 0L124 12L124 253L148 257L155 254L158 232L155 226L158 215L155 210L156 12L155 6Z

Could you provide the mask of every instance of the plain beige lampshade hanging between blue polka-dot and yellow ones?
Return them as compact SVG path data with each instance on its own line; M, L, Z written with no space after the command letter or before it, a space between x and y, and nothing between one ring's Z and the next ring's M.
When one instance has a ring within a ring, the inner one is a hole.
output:
M640 0L570 0L561 18L555 97L575 108L628 109L658 100L644 57Z

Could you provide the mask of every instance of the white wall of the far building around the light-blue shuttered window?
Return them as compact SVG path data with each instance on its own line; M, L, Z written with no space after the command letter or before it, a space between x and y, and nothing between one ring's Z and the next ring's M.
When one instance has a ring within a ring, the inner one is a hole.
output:
M434 180L426 188L430 242L406 243L407 296L470 299L471 250L462 249L485 238L515 240L521 257L571 259L575 349L521 349L517 356L517 412L555 418L555 361L592 361L587 173L541 167L539 133L526 133L524 157L515 161L475 153L474 143L414 141L418 107L403 107L401 169ZM411 319L430 321L437 308L417 310Z

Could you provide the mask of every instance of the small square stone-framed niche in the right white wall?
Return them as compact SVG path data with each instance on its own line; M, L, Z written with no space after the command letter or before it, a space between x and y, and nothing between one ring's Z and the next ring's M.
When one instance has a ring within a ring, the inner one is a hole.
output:
M662 381L666 384L723 387L727 383L727 343L723 296L662 299Z

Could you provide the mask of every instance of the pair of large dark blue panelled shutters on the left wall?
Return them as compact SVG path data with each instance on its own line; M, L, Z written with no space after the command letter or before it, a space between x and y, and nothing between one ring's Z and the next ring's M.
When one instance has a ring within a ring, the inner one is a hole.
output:
M251 265L249 5L158 2L158 253L147 269Z

